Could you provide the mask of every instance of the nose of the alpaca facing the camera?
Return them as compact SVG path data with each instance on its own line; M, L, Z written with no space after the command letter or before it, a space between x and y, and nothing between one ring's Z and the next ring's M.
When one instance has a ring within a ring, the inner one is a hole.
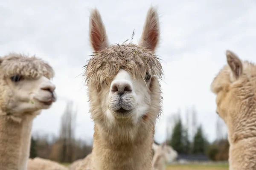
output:
M117 80L112 83L111 91L113 93L118 93L119 95L128 94L132 92L132 86L128 81Z

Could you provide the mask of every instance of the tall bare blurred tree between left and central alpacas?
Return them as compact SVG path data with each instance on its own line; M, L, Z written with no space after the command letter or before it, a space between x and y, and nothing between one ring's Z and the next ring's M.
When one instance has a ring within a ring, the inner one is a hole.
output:
M60 130L60 161L72 162L75 157L75 130L77 111L73 111L73 101L68 101L61 117Z

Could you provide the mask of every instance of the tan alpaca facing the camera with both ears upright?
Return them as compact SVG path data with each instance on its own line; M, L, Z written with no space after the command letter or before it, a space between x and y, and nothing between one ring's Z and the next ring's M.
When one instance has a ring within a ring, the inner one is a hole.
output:
M85 65L93 150L78 170L153 170L154 126L161 113L162 66L154 54L160 36L148 10L139 45L110 45L99 11L90 14L93 57Z

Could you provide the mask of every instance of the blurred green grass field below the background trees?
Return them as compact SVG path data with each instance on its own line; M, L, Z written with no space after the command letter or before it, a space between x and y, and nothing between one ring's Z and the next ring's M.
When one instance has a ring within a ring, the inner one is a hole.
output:
M63 163L68 166L69 164ZM170 165L166 170L228 170L228 165L200 165L200 164L186 164L186 165Z

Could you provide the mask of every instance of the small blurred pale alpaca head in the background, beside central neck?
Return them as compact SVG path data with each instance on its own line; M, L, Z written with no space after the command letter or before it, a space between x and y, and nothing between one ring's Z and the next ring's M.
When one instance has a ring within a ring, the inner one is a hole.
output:
M153 143L153 150L156 156L163 156L166 163L171 163L178 158L178 153L171 146L163 142L160 145Z

